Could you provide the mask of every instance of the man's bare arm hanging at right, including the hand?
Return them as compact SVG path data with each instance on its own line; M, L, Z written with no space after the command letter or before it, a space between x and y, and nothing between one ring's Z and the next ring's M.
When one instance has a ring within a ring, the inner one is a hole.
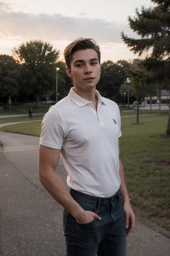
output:
M125 178L124 178L123 165L120 159L120 143L119 143L119 175L121 178L120 190L121 190L121 197L123 200L123 206L125 210L126 229L127 229L127 236L128 236L132 233L134 229L135 216L131 207L131 202L129 199L128 190L127 190Z

